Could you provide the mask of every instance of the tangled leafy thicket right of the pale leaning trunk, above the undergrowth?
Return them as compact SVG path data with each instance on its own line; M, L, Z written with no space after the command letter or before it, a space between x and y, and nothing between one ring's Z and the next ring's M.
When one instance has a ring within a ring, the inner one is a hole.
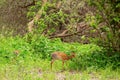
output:
M93 10L83 12L81 15L82 9L83 11L87 10L84 7ZM42 11L41 17L35 21L35 29L39 34L50 38L64 38L77 34L83 40L89 38L89 41L108 49L110 55L120 52L120 4L118 0L58 0L48 1L44 6L42 6L42 1L37 1L36 5L29 8L27 16L30 19L33 18L39 9ZM81 22L86 22L89 28L91 27L91 30L87 31L97 36L93 38L93 36L82 34L81 30L86 31L85 26L80 28L81 25L76 25ZM59 34L60 32L61 34Z

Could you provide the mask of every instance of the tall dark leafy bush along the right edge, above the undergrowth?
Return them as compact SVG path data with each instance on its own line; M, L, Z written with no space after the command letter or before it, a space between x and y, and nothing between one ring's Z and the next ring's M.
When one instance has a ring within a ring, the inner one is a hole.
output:
M88 3L96 8L96 15L87 15L86 21L99 33L97 44L105 47L108 51L120 52L119 1L88 0ZM100 26L100 24L104 25Z

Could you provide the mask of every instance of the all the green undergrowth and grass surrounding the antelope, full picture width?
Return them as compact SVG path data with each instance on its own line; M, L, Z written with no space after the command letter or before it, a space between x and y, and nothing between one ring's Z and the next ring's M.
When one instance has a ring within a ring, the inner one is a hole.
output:
M15 51L18 51L16 54ZM50 54L62 51L76 57L62 62L55 61L50 68ZM119 53L108 55L95 44L65 43L60 39L26 35L24 37L0 37L0 78L2 80L88 80L120 79ZM102 74L101 74L102 73ZM114 73L114 74L111 74Z

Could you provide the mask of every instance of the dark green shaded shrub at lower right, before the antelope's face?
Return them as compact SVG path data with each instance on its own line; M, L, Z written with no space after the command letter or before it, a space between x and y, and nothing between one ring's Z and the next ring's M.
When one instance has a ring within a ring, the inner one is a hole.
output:
M88 52L87 54L79 54L79 56L74 60L74 63L71 63L72 68L76 69L98 69L111 67L112 69L119 68L120 66L120 55L116 53L112 56L109 56L104 50L94 50Z

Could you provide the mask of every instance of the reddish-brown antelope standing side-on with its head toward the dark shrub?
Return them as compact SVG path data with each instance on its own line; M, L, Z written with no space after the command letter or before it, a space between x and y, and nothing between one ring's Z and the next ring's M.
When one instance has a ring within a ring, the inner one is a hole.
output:
M70 56L68 56L67 54L63 53L63 52L53 52L51 54L52 60L51 60L51 69L52 69L52 64L54 63L55 60L62 60L62 67L64 67L64 62L74 58L75 57L75 53L71 53Z

